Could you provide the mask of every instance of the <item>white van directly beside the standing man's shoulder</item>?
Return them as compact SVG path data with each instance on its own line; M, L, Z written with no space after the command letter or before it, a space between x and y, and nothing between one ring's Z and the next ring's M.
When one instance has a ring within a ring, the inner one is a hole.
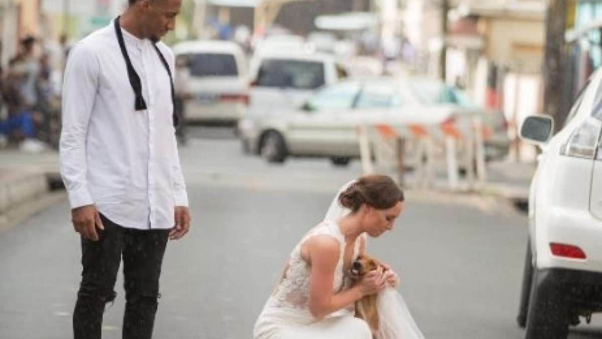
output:
M243 49L219 40L181 42L176 57L188 59L191 99L185 118L193 122L236 123L249 104L249 80Z

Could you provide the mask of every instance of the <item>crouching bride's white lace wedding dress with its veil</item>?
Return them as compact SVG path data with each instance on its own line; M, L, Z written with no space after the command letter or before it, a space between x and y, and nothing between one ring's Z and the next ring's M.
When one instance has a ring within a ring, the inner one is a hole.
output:
M265 303L253 331L254 339L373 339L368 324L342 309L317 320L308 308L310 267L301 257L301 246L315 235L328 235L339 242L340 256L335 268L332 291L348 288L343 272L345 238L337 221L349 213L338 203L338 195L352 182L346 183L335 195L323 223L305 235L294 248L281 281ZM362 235L365 238L365 235ZM355 241L353 260L359 255L361 237ZM379 331L376 339L424 339L401 294L388 287L377 296Z

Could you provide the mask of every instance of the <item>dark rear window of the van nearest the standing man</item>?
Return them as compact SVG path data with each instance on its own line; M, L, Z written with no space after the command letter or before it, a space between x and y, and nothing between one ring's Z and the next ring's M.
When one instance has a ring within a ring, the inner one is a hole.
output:
M188 54L188 68L193 77L232 77L238 75L236 59L226 53Z

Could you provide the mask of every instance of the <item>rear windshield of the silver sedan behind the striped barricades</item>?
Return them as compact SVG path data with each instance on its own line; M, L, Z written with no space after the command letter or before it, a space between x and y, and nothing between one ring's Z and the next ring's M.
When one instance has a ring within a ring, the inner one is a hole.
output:
M476 107L464 90L447 86L439 81L412 80L410 87L423 104L456 104L465 108Z

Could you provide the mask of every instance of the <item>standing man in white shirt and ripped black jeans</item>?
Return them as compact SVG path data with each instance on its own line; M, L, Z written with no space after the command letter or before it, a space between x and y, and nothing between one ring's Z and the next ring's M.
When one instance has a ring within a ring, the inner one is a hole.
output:
M81 235L75 339L101 338L123 257L123 338L151 338L167 239L190 214L173 127L173 30L181 0L129 0L122 16L69 54L61 174ZM167 68L169 64L169 68Z

